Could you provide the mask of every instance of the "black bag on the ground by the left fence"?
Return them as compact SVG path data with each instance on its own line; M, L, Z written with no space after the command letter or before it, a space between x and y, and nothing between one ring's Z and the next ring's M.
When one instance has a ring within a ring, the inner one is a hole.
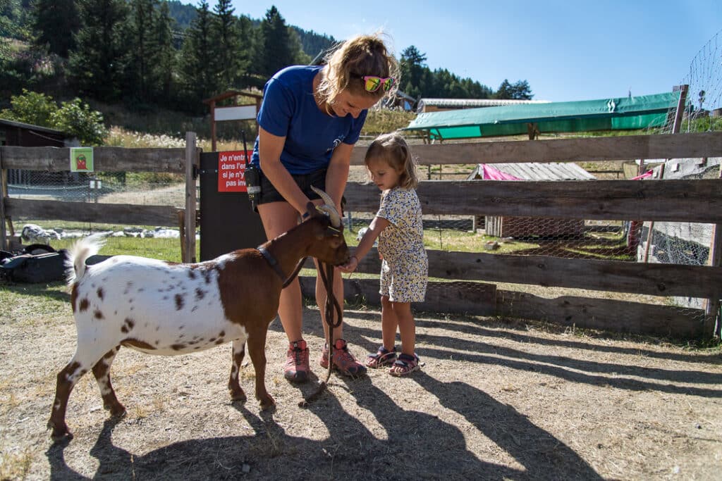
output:
M65 249L56 251L50 246L32 244L18 255L2 258L0 278L26 283L62 281L65 278L66 257Z

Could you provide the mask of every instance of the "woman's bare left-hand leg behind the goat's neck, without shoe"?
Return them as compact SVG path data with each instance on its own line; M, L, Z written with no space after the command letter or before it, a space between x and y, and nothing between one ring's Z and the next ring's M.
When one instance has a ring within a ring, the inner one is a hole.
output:
M261 222L264 224L268 239L278 237L285 231L292 229L298 221L297 211L287 202L261 204L258 206L258 214L261 216ZM290 343L303 338L303 305L298 278L295 278L292 283L281 291L278 315Z

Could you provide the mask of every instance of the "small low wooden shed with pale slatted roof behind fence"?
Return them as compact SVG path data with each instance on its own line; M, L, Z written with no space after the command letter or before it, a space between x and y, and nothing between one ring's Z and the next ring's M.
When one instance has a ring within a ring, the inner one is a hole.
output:
M467 180L596 180L572 162L521 162L510 164L478 164ZM482 227L481 216L474 219L475 228ZM580 237L583 219L539 219L538 217L484 216L487 235L495 237Z

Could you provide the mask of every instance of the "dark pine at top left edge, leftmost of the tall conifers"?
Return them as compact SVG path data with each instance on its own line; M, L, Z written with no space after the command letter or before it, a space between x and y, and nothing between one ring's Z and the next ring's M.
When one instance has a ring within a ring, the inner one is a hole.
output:
M75 48L74 34L80 28L74 0L35 0L32 30L36 45L48 45L48 51L68 58Z

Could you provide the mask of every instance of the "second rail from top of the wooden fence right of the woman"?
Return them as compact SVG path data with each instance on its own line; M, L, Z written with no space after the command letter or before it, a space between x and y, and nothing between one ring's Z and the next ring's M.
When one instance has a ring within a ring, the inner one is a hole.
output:
M417 193L425 214L722 222L718 179L422 181ZM349 182L344 195L349 212L378 210L375 185Z

